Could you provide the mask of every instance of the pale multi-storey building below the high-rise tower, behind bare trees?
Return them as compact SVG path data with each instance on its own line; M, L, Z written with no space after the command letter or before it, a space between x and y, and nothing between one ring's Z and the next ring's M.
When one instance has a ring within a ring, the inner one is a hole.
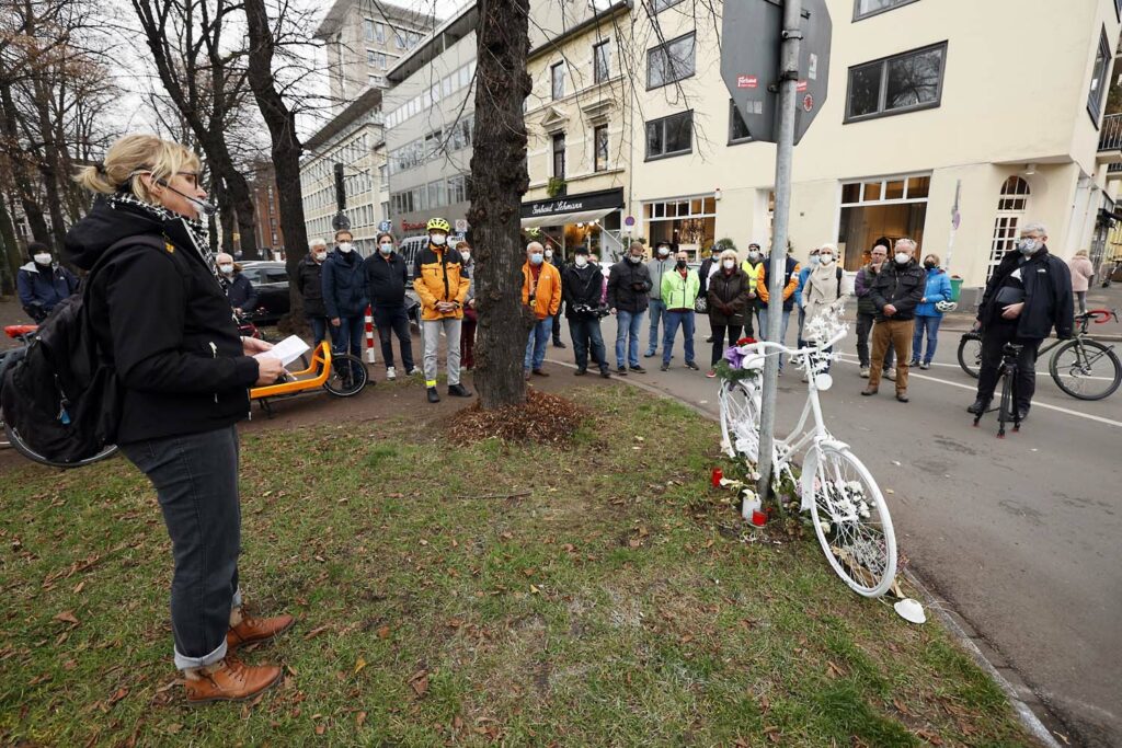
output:
M304 144L301 161L304 223L309 241L334 237L339 213L335 165L342 165L343 211L356 250L374 251L378 224L387 218L388 185L383 131L381 90L368 89Z

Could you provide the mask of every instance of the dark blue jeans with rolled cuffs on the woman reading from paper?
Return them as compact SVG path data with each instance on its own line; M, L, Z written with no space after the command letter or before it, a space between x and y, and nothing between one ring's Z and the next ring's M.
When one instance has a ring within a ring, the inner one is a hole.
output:
M241 604L238 430L134 442L121 452L151 481L172 538L175 666L213 665L226 657L230 609Z

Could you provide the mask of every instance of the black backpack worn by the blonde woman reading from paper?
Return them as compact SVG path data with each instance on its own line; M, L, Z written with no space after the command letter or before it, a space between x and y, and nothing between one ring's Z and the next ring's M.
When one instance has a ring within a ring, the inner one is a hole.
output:
M6 362L0 408L8 427L31 450L61 464L80 464L117 438L121 394L117 371L99 350L88 310L92 280L125 246L164 249L157 237L113 243L94 264L80 294L63 299L39 325L37 338ZM12 354L15 355L15 354Z

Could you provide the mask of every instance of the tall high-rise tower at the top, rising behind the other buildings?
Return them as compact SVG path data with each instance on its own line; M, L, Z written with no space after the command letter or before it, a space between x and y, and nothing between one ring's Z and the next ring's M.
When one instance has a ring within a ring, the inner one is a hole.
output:
M335 0L314 35L327 45L334 113L367 89L386 87L386 72L436 24L432 16L395 4Z

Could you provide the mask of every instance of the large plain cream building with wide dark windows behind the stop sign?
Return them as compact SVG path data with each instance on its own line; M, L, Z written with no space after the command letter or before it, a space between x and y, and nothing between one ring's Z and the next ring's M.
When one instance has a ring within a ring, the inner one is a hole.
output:
M980 286L1026 221L1047 224L1065 258L1100 233L1106 243L1107 167L1122 158L1100 149L1115 0L827 6L829 93L794 151L797 257L835 242L853 270L877 238L909 236ZM770 242L775 147L734 109L720 21L699 8L660 0L634 13L644 49L626 202L637 234L703 255L725 237L742 250ZM1039 44L1018 52L1028 38Z

